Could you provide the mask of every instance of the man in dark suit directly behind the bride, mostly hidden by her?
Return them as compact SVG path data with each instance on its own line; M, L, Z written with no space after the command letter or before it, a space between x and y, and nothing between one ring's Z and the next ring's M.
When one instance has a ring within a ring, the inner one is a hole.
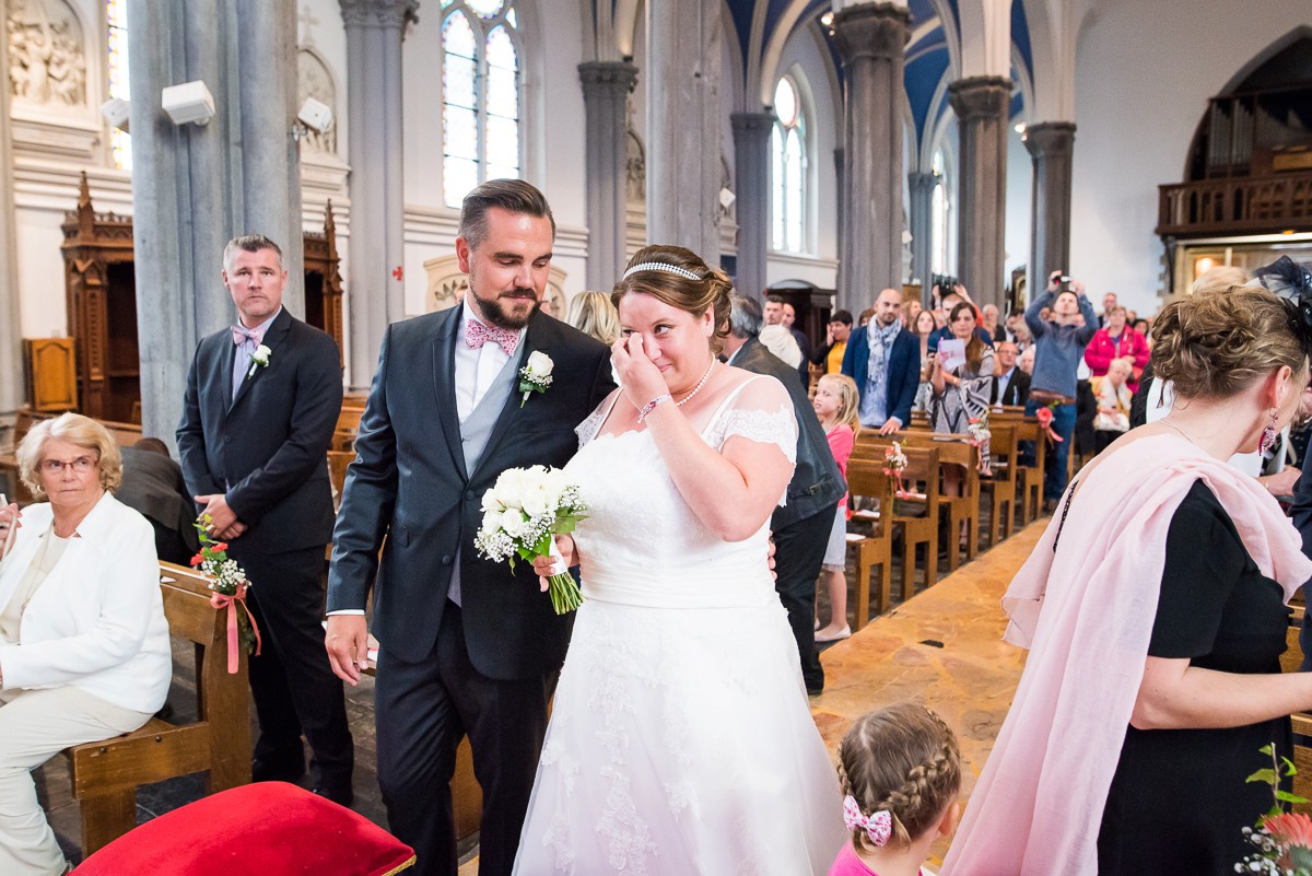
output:
M760 304L735 294L724 355L735 367L779 380L792 399L798 420L798 462L789 481L787 502L770 517L770 530L775 547L774 589L789 612L802 661L802 679L813 696L824 690L824 669L815 643L816 578L838 500L848 488L798 372L765 349L757 340L760 333Z

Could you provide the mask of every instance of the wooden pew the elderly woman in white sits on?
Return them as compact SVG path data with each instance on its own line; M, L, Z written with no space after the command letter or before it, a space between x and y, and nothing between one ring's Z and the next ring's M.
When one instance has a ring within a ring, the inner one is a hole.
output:
M188 724L152 719L133 733L64 750L81 804L83 856L136 826L138 786L201 771L209 772L207 793L251 782L247 657L228 674L227 610L210 606L210 590L192 569L160 563L160 572L169 632L195 647L199 716Z

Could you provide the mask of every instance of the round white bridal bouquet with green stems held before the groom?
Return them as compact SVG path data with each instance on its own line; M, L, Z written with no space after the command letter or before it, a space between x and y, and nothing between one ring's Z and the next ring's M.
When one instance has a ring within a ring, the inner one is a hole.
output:
M493 563L508 561L514 569L516 556L531 563L551 555L552 536L573 532L586 510L579 487L559 468L508 468L483 494L483 526L474 546L482 556ZM558 615L583 605L579 585L568 572L547 578L543 589L551 594L551 607Z

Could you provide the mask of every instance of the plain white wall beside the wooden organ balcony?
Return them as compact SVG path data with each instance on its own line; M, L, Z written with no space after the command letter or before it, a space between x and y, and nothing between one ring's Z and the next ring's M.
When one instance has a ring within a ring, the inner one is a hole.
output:
M1093 4L1076 59L1071 269L1096 300L1115 291L1140 313L1160 307L1157 186L1182 181L1207 98L1304 24L1307 0Z

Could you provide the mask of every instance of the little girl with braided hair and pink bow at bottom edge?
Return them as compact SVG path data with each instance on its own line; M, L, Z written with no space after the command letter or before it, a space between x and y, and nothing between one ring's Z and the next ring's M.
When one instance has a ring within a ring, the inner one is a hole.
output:
M920 866L960 816L962 757L938 715L899 703L861 717L838 745L851 842L829 876L925 876Z

